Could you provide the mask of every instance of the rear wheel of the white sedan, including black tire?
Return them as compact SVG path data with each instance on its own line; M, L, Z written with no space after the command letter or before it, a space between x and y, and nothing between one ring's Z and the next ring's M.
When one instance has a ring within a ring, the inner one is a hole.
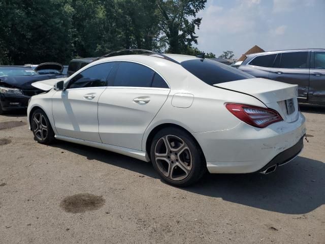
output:
M159 131L152 140L150 156L160 177L177 187L193 184L206 171L200 146L187 132L178 128Z

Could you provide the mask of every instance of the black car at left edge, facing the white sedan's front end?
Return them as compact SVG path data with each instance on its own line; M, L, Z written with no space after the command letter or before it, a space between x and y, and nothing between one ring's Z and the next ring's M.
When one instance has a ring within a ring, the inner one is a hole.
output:
M0 114L26 109L31 96L44 92L31 83L52 78L55 75L40 75L28 67L0 66Z

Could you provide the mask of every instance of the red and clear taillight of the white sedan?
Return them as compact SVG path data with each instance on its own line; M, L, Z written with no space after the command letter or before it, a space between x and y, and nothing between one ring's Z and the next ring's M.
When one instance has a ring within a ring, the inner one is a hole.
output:
M237 103L227 103L225 107L246 124L258 128L265 128L270 124L283 120L277 111L270 108Z

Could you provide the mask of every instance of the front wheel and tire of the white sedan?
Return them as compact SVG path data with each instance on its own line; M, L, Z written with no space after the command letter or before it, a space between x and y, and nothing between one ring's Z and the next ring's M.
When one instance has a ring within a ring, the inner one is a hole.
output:
M50 144L54 140L54 132L50 121L42 109L37 109L32 113L30 125L34 139L37 142Z

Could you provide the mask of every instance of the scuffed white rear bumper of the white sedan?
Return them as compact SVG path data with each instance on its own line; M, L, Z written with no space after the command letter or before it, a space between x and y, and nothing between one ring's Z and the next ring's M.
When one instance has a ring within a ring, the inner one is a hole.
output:
M210 173L252 173L268 168L271 162L281 165L297 156L305 133L305 117L299 113L293 123L281 121L263 129L239 123L230 130L193 136L201 145Z

